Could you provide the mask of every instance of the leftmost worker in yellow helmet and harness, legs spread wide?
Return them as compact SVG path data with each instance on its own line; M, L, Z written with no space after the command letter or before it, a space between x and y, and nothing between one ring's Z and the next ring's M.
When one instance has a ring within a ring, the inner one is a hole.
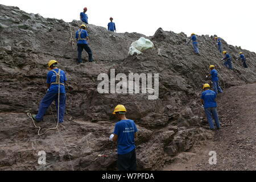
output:
M39 105L38 114L32 115L32 118L37 122L43 121L43 116L48 107L52 104L52 101L55 101L57 118L59 119L59 123L62 123L64 122L63 118L66 106L65 83L67 78L65 76L65 72L57 68L57 61L49 61L48 67L51 69L47 74L48 90Z

